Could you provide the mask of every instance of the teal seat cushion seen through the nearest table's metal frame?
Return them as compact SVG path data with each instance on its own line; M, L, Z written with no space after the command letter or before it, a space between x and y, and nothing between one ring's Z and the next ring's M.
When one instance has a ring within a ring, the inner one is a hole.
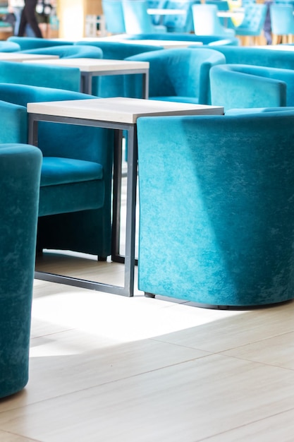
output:
M102 178L103 167L97 162L59 157L43 158L41 187Z

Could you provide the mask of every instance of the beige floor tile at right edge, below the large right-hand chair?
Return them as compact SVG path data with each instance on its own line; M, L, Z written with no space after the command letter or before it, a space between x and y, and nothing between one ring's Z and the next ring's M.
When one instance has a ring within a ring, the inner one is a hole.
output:
M294 331L294 302L252 311L216 311L215 321L187 328L159 340L207 352L223 352Z

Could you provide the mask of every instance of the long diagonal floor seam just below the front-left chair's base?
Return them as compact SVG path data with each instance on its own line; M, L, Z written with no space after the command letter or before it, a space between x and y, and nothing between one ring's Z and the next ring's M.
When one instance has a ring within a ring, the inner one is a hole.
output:
M8 410L2 410L2 411L0 411L0 415L2 413L13 412L15 410L25 409L25 408L31 407L33 405L42 404L42 402L48 402L48 401L56 400L56 399L59 399L59 398L66 398L67 396L75 395L76 393L81 393L82 391L92 390L93 388L99 388L99 387L102 387L102 386L107 386L107 385L110 385L111 383L118 383L118 382L121 382L121 381L126 381L126 380L128 380L130 378L137 378L138 376L143 376L145 374L153 373L154 371L160 371L160 370L168 369L169 367L172 367L172 366L186 364L187 362L192 362L192 361L195 361L195 360L198 360L198 359L204 359L204 357L209 357L209 356L212 356L212 354L207 354L207 355L204 355L202 357L194 357L194 358L186 359L185 361L176 362L175 364L169 364L169 365L166 365L166 366L158 367L157 369L142 371L141 373L133 374L131 376L125 376L123 378L113 379L112 381L106 381L106 382L102 382L102 383L93 384L92 386L89 386L87 388L80 388L80 389L73 390L73 391L68 392L68 393L52 396L52 397L47 398L47 399L36 400L36 401L30 402L30 403L26 403L24 405L19 405L18 407L9 408ZM1 430L1 426L0 426L0 430ZM2 429L2 430L5 431L4 429Z

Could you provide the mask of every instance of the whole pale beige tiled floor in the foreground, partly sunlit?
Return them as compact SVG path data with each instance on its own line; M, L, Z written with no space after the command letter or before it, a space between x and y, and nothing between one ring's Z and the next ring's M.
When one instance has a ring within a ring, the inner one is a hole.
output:
M35 281L1 442L293 441L294 303L252 311Z

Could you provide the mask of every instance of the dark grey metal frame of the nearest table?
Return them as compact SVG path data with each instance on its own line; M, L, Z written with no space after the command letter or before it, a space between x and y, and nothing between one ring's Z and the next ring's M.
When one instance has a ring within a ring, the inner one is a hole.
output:
M125 263L124 286L109 285L102 282L82 280L75 277L56 275L35 271L35 278L39 280L59 282L99 292L121 294L133 297L135 272L135 207L137 186L137 125L118 123L114 121L100 121L73 117L54 117L51 115L29 115L28 143L38 145L38 122L48 121L61 124L75 124L80 126L96 126L106 129L115 129L114 136L114 189L113 189L113 219L112 219L112 251L113 261ZM121 212L121 160L122 160L122 131L128 131L128 172L127 172L127 200L125 225L125 256L119 254L120 239L120 212Z

